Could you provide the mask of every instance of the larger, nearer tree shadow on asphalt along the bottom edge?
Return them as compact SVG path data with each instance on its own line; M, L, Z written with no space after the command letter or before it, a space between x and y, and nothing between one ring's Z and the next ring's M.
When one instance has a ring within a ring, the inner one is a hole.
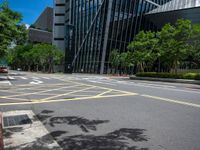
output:
M65 136L58 144L66 150L148 150L139 148L137 142L147 142L143 129L121 128L101 136L74 135Z

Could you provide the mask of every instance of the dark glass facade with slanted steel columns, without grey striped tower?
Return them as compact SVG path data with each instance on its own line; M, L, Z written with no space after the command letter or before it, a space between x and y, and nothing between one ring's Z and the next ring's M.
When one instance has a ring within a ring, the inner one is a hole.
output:
M197 0L183 0L191 4ZM127 45L141 30L159 30L146 17L167 9L178 8L179 0L71 0L66 7L73 25L74 72L107 73L112 49L127 51ZM180 8L181 9L181 8Z

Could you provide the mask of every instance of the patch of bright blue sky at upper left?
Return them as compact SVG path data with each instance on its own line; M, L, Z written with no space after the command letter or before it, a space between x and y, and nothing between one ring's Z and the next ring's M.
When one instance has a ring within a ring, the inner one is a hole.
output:
M2 3L4 0L0 0ZM12 10L18 11L23 15L23 23L33 24L43 10L53 6L53 0L7 0Z

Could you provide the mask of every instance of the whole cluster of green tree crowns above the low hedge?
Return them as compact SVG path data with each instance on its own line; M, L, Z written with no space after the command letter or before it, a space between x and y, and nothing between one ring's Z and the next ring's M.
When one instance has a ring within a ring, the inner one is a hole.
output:
M141 31L128 50L138 71L161 71L161 67L162 71L177 73L178 66L188 59L200 65L200 25L180 19L156 33Z

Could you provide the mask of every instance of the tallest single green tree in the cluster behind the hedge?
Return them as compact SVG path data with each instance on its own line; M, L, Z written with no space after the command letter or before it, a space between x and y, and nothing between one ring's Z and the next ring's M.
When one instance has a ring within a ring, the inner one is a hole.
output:
M191 37L192 24L189 20L178 20L176 24L166 24L158 33L159 49L162 53L162 63L177 73L178 64L189 53L188 40ZM166 57L167 56L167 57Z

